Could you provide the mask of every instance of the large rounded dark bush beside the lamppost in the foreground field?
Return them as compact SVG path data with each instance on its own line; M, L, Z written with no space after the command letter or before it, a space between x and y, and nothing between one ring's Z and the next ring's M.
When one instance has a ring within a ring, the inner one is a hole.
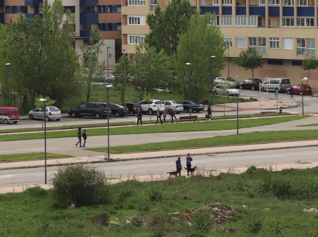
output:
M52 184L54 200L60 207L106 203L110 197L105 174L82 164L59 168Z

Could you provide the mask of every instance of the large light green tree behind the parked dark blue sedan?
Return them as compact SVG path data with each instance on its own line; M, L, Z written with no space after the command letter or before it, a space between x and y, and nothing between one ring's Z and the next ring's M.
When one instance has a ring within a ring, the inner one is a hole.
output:
M225 47L218 26L211 25L212 14L192 15L188 31L180 36L175 57L176 78L172 90L186 99L189 97L189 66L191 63L191 99L204 97L205 88L211 87L211 56L213 58L213 76L221 75L225 67Z

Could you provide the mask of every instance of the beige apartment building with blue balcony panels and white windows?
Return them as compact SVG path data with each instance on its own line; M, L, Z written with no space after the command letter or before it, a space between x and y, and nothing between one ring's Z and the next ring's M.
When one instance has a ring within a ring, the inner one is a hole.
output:
M254 70L254 77L288 77L292 84L301 83L308 76L300 65L307 56L316 55L318 46L318 1L314 0L197 0L190 3L201 14L215 12L215 25L219 25L224 42L229 46L226 56L229 67L224 76L237 81L252 78L233 64L245 49L255 49L265 59L263 68ZM135 43L143 41L149 27L146 15L156 4L163 9L167 1L122 1L122 53L133 54ZM310 71L309 84L318 88L318 69Z

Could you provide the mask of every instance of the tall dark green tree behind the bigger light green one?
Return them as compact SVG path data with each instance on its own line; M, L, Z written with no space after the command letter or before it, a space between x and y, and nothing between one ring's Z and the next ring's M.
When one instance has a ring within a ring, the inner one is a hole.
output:
M150 33L146 34L145 42L161 49L168 55L176 53L179 36L187 31L189 19L193 13L189 0L171 0L164 11L158 5L155 14L147 16Z

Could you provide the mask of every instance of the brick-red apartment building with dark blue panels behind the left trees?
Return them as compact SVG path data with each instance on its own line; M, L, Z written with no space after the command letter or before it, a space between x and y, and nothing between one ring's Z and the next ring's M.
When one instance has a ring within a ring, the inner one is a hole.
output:
M54 0L48 0L53 4ZM0 0L0 23L8 24L10 18L16 20L20 13L26 18L40 14L39 4L43 0ZM114 67L121 56L121 1L120 0L62 0L65 9L75 14L75 49L81 54L79 44L88 43L92 28L100 29L105 46L101 49L99 61L108 56L109 67ZM107 55L107 46L108 49Z

